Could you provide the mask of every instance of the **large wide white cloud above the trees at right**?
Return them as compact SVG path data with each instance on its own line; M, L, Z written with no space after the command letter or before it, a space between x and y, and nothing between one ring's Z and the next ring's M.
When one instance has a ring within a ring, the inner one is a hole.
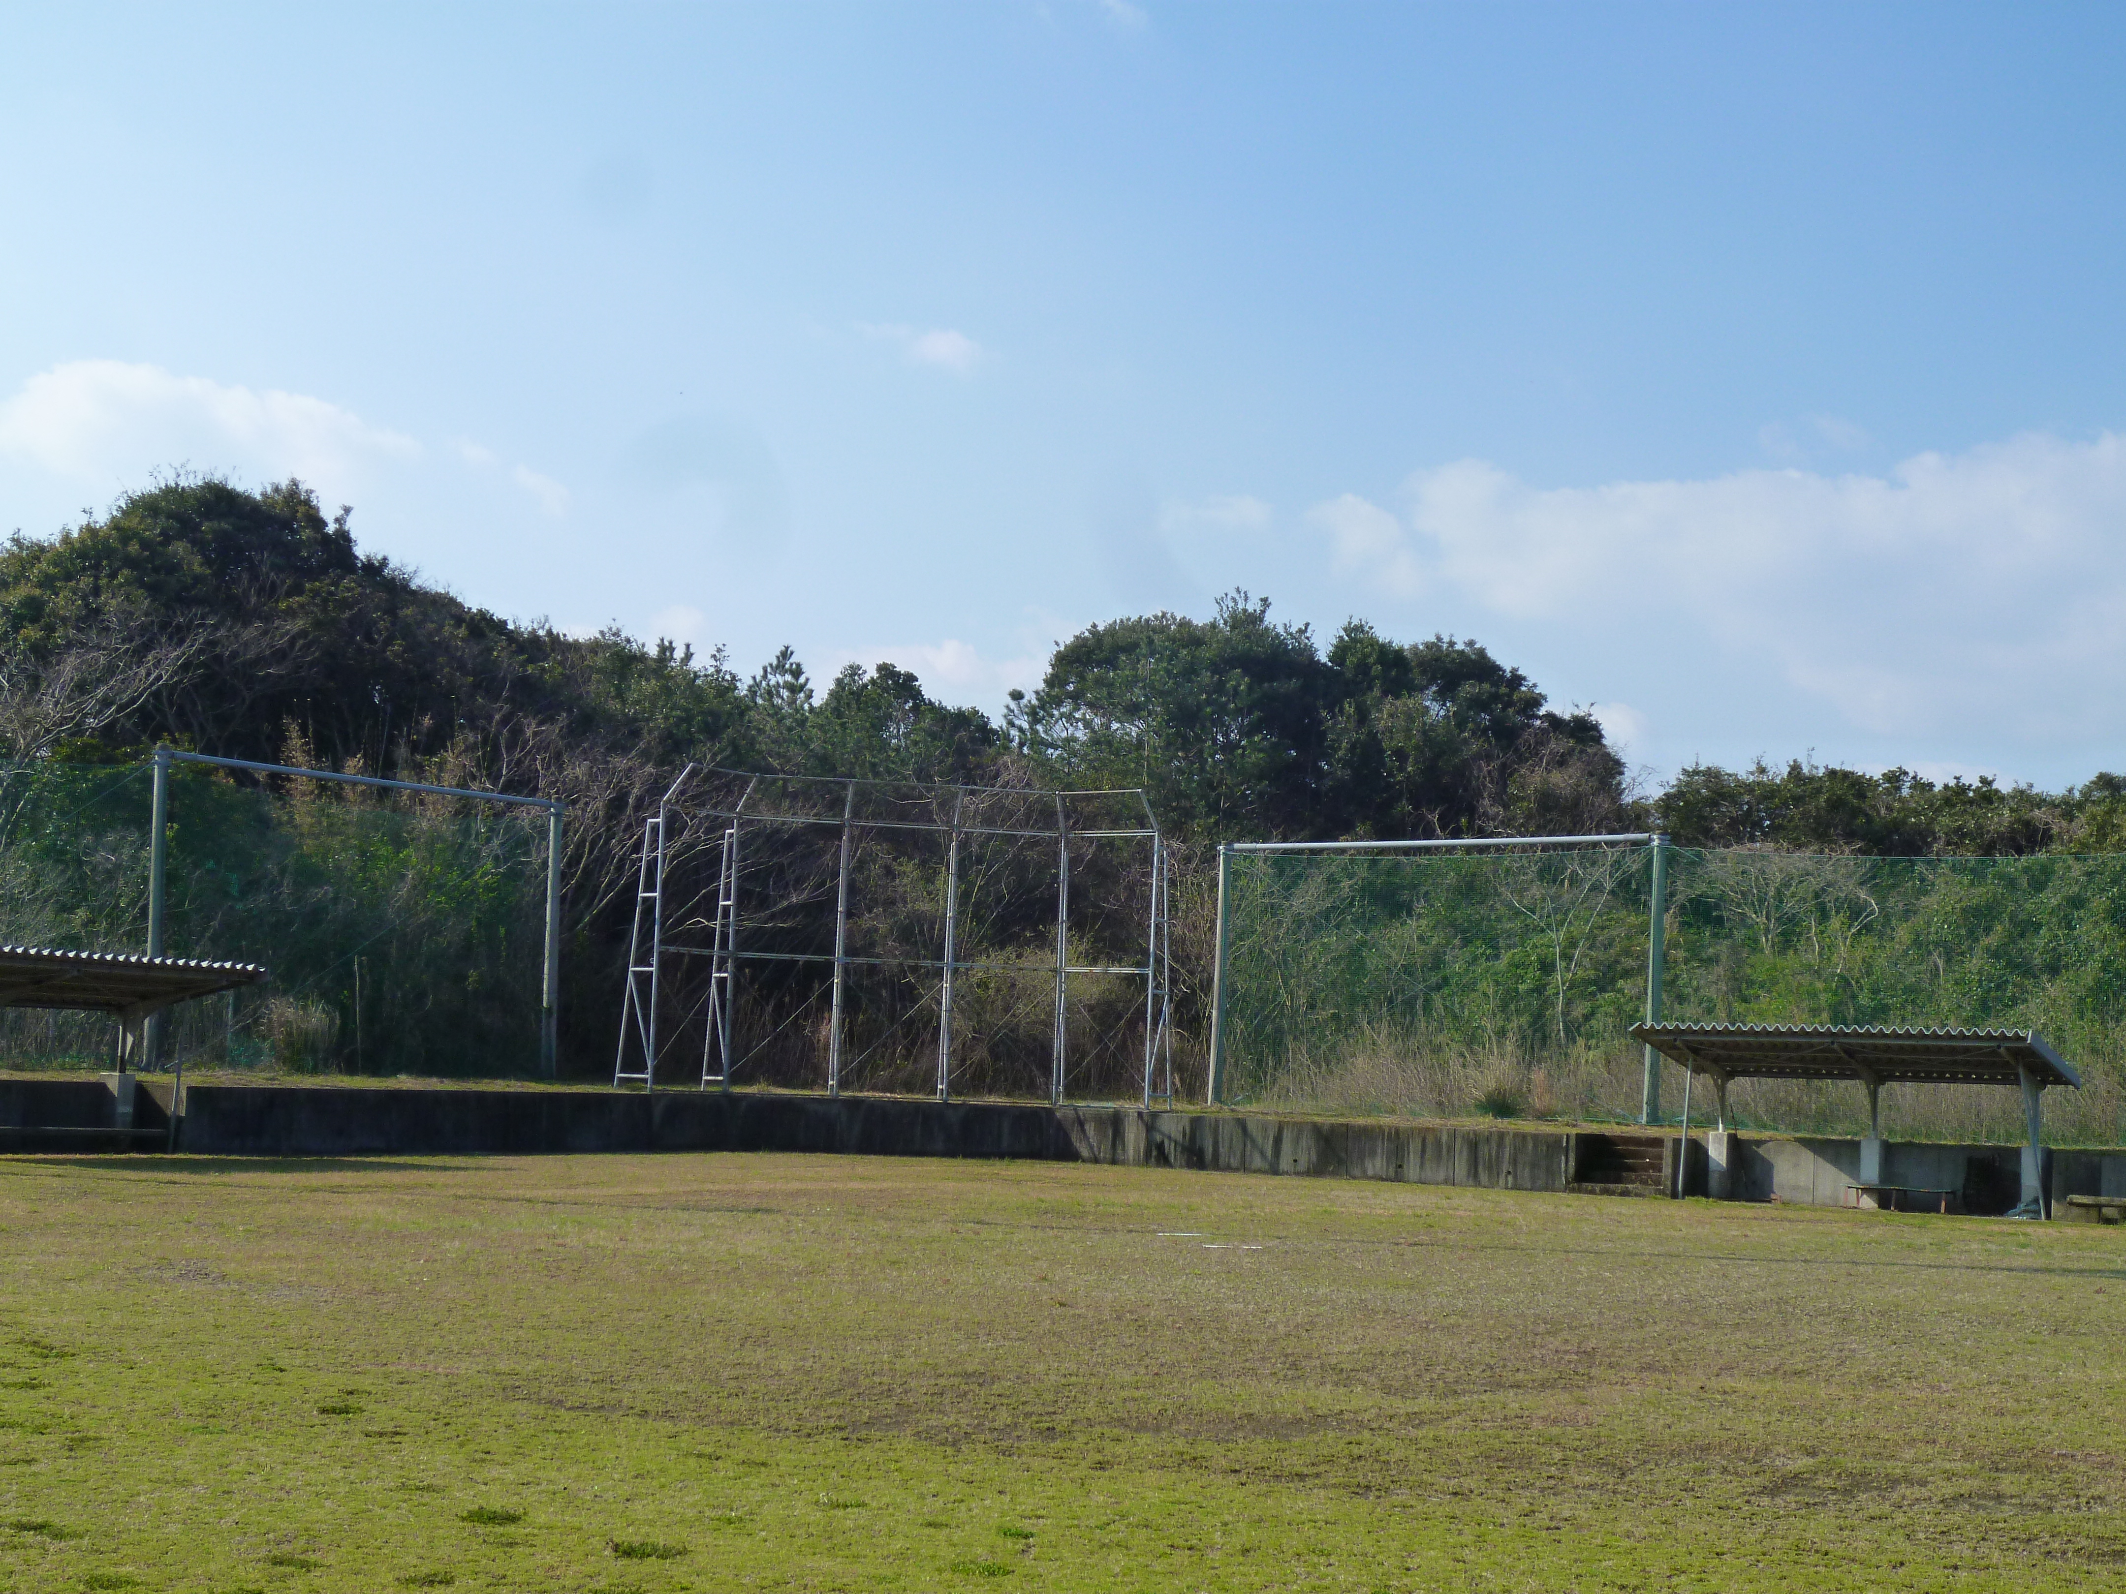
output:
M1405 512L1316 508L1335 567L1556 629L1631 627L1688 669L1762 663L1869 731L1973 714L2030 737L2126 729L2126 438L2020 436L1886 476L1748 470L1535 489L1418 472Z

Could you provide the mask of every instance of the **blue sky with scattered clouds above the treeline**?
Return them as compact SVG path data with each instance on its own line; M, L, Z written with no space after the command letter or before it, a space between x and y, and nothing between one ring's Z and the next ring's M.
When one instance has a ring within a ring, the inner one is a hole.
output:
M2126 767L2126 11L17 6L0 529L995 708L1246 587L1656 776Z

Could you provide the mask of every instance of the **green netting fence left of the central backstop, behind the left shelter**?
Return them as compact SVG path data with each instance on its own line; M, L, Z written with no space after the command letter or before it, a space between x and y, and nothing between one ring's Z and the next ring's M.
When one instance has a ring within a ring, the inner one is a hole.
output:
M0 942L142 952L151 765L0 769ZM270 982L168 1012L162 1063L506 1078L540 1065L546 816L170 771L164 952ZM0 1067L111 1067L117 1022L0 1010Z

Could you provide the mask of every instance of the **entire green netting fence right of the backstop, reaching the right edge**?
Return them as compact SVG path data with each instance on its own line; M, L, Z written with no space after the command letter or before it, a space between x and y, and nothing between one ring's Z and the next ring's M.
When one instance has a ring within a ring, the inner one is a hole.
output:
M1633 1120L1652 848L1233 854L1225 1099ZM2083 1073L2054 1139L2126 1131L2126 857L1667 848L1663 1016L2035 1029ZM1667 1069L1663 1114L1682 1105ZM1903 1086L1890 1133L2018 1137L2013 1092ZM1854 1133L1858 1086L1743 1082L1743 1126Z

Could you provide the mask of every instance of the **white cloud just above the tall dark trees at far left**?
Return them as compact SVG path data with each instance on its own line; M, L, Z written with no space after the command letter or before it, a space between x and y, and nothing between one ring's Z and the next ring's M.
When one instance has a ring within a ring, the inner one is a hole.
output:
M96 487L140 485L189 463L340 489L372 465L417 459L421 444L304 393L74 359L0 404L0 455Z

